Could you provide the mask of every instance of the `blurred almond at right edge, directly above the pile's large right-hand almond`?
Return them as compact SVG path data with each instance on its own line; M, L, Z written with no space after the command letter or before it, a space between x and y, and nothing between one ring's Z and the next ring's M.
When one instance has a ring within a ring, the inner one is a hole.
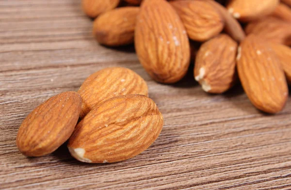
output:
M246 28L247 34L255 34L270 42L291 45L291 24L275 17L267 17L250 22Z

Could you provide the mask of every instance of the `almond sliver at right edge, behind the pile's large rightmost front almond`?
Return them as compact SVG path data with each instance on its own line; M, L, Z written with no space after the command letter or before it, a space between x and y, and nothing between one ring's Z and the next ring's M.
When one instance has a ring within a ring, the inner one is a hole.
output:
M291 47L276 43L271 43L271 47L280 60L288 83L291 84Z

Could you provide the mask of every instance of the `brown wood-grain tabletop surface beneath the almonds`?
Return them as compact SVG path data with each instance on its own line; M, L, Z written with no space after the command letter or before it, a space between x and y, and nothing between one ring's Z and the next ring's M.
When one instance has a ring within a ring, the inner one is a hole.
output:
M133 47L101 47L91 28L79 0L0 0L0 189L291 189L290 100L265 115L240 85L208 95L191 72L158 84ZM18 152L17 129L30 111L108 66L146 79L165 119L155 143L113 164L81 163L65 145L41 158Z

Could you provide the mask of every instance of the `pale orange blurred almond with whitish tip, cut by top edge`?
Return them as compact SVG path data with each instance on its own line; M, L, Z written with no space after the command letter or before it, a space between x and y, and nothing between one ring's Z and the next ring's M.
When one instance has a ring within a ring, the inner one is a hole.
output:
M247 22L270 15L279 0L229 0L228 12L240 21Z

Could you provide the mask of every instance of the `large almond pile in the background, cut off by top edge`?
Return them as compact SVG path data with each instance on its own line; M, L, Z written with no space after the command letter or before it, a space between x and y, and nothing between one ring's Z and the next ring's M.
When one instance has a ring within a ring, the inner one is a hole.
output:
M238 80L260 111L281 111L291 83L291 0L83 0L105 46L134 43L161 83L194 79L220 94ZM119 6L119 7L118 7ZM116 8L118 7L118 8Z

